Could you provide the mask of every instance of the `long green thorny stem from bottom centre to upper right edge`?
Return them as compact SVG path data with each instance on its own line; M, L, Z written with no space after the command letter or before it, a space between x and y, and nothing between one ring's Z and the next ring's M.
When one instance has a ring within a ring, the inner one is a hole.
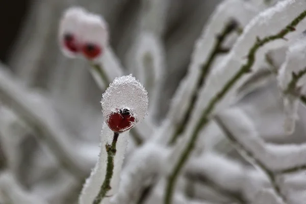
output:
M246 73L251 71L251 67L255 62L256 52L259 48L264 46L265 44L277 40L277 39L284 39L284 37L290 33L295 31L295 26L304 18L306 17L306 10L300 13L294 20L292 20L284 29L279 31L275 35L270 35L265 37L264 39L257 38L256 42L254 42L253 46L250 48L248 55L247 55L247 62L242 65L239 71L230 79L223 88L216 93L216 95L210 100L208 106L205 110L203 110L201 118L199 119L198 123L195 126L195 129L190 137L190 140L187 142L186 148L183 150L183 153L174 166L172 173L169 175L168 182L166 185L166 192L164 197L164 204L171 204L172 195L173 195L173 188L176 184L177 177L181 169L184 167L185 163L188 161L188 158L191 154L191 151L195 145L195 142L198 138L200 130L202 130L203 126L207 125L209 122L209 117L214 110L217 103L224 97L224 95L238 82L238 80Z

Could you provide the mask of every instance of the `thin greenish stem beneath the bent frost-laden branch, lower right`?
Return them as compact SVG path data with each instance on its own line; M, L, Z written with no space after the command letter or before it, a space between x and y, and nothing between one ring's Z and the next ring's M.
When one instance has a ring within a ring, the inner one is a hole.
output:
M216 116L215 121L217 123L217 125L220 127L220 129L223 131L224 135L228 138L228 140L230 140L233 145L235 147L239 147L240 149L242 149L244 152L244 154L241 154L242 152L239 152L241 154L242 157L249 157L251 158L251 160L259 167L263 170L263 172L266 173L266 175L268 176L272 188L274 189L275 193L281 197L284 201L286 201L286 197L285 195L282 194L281 192L281 188L279 187L279 185L276 182L276 175L273 171L271 171L268 167L265 166L264 163L262 163L259 159L257 159L256 157L253 156L253 154L246 148L244 147L235 137L235 135L233 135L231 133L230 130L228 130L228 128L226 127L226 125L222 122L222 120L220 119L219 116Z

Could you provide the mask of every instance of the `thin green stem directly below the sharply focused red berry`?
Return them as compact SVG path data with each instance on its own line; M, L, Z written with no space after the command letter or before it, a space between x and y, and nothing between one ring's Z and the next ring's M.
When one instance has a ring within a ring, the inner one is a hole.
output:
M100 191L98 195L93 200L93 204L99 204L102 199L106 196L107 192L111 190L111 180L113 177L113 170L114 170L114 157L116 155L116 143L118 140L119 133L114 132L114 137L112 144L106 144L106 152L107 152L107 166L106 166L106 174L103 184L101 185Z

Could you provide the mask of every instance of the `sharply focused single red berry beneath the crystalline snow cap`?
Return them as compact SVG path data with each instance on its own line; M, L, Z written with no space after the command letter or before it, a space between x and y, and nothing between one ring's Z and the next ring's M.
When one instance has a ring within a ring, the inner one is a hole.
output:
M121 133L134 126L135 118L131 115L129 109L123 109L110 114L107 122L112 131Z

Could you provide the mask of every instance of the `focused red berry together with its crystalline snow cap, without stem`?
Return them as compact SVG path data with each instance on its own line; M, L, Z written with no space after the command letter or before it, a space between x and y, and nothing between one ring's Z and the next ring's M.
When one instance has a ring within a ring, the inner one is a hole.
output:
M123 132L141 122L147 115L147 91L132 74L117 77L103 94L101 105L103 116L110 129L114 132ZM119 114L123 120L125 115L122 115L122 113L126 110L131 114L133 121L130 125L120 126L122 125L122 123L119 124L120 121L113 121L118 119L116 116L114 117L114 114Z

